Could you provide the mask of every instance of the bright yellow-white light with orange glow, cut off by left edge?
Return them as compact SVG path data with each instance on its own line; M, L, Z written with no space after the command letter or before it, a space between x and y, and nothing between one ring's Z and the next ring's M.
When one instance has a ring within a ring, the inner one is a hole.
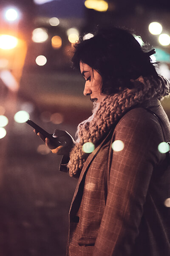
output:
M12 35L0 35L0 48L13 49L17 46L18 39Z

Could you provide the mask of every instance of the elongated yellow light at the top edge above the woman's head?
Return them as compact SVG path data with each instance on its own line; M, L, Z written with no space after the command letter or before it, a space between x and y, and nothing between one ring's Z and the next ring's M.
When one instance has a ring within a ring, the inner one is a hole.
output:
M98 12L106 12L108 10L108 3L105 0L86 0L85 7Z

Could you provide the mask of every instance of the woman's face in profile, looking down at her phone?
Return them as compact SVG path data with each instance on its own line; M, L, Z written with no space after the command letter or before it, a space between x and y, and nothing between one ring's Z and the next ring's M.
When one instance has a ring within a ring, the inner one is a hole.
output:
M92 102L100 102L105 97L101 94L102 77L96 70L92 70L88 64L80 61L80 71L85 78L85 88L83 94L85 96L90 95Z

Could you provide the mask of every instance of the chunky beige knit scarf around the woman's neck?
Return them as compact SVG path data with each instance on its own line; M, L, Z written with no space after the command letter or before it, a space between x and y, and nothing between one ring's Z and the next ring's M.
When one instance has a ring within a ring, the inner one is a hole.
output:
M129 108L153 97L161 100L170 93L170 83L162 76L158 76L158 79L153 79L152 76L147 78L140 76L131 81L134 83L133 89L125 88L113 96L106 96L96 104L92 116L78 125L77 140L68 163L70 176L79 176L88 157L88 154L82 150L84 143L91 142L96 146Z

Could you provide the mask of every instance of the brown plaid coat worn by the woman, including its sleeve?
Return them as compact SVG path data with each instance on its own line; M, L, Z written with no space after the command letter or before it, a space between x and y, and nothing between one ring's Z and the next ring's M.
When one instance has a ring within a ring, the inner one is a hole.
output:
M170 256L170 171L167 154L158 151L164 136L158 119L143 107L161 118L170 141L170 122L157 99L119 120L80 174L67 256ZM115 140L124 143L122 151L112 149Z

